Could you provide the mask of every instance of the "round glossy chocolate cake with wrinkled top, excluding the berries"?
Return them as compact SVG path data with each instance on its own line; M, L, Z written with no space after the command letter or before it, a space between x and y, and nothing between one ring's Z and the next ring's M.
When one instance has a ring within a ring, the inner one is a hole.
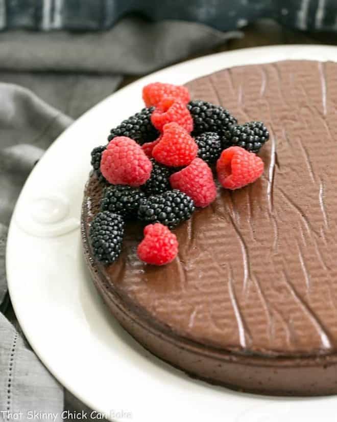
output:
M335 394L337 64L240 66L187 86L239 123L264 121L264 174L219 188L174 230L179 256L160 267L137 258L138 223L115 263L92 258L88 225L103 187L92 175L82 234L94 283L135 339L190 375L265 394Z

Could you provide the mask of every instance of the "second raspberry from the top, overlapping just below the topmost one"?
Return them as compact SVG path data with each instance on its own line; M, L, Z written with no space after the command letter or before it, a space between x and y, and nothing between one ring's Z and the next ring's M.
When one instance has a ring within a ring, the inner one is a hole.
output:
M193 119L186 105L172 97L164 98L151 115L154 127L162 131L166 123L176 122L188 132L193 130Z

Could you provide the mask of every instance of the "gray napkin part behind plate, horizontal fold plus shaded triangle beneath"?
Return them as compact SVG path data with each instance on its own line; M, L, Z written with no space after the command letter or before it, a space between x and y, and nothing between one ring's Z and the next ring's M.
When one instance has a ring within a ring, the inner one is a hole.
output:
M106 32L9 31L0 33L0 80L25 86L76 118L113 93L122 75L148 74L241 35L138 17Z

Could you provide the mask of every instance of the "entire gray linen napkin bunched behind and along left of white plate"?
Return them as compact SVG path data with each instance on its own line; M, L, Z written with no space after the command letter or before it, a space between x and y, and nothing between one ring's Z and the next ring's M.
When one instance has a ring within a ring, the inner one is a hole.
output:
M0 306L7 292L11 213L44 150L72 118L115 91L121 75L151 72L234 36L200 24L149 24L138 18L126 18L105 33L0 34ZM6 315L17 325L12 313ZM65 396L66 408L86 409L70 393ZM0 420L10 419L6 411L33 420L28 412L34 410L61 420L63 401L63 388L0 314Z

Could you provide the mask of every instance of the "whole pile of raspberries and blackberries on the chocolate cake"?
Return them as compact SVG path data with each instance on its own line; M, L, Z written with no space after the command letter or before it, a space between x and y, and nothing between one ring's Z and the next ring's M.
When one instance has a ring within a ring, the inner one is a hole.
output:
M262 122L238 125L225 108L190 101L184 86L151 83L142 96L147 108L111 129L108 145L91 152L95 175L110 184L89 230L93 255L103 264L118 258L130 219L146 225L138 257L170 263L178 254L171 229L216 198L210 166L219 184L232 190L263 172L256 153L269 132Z

